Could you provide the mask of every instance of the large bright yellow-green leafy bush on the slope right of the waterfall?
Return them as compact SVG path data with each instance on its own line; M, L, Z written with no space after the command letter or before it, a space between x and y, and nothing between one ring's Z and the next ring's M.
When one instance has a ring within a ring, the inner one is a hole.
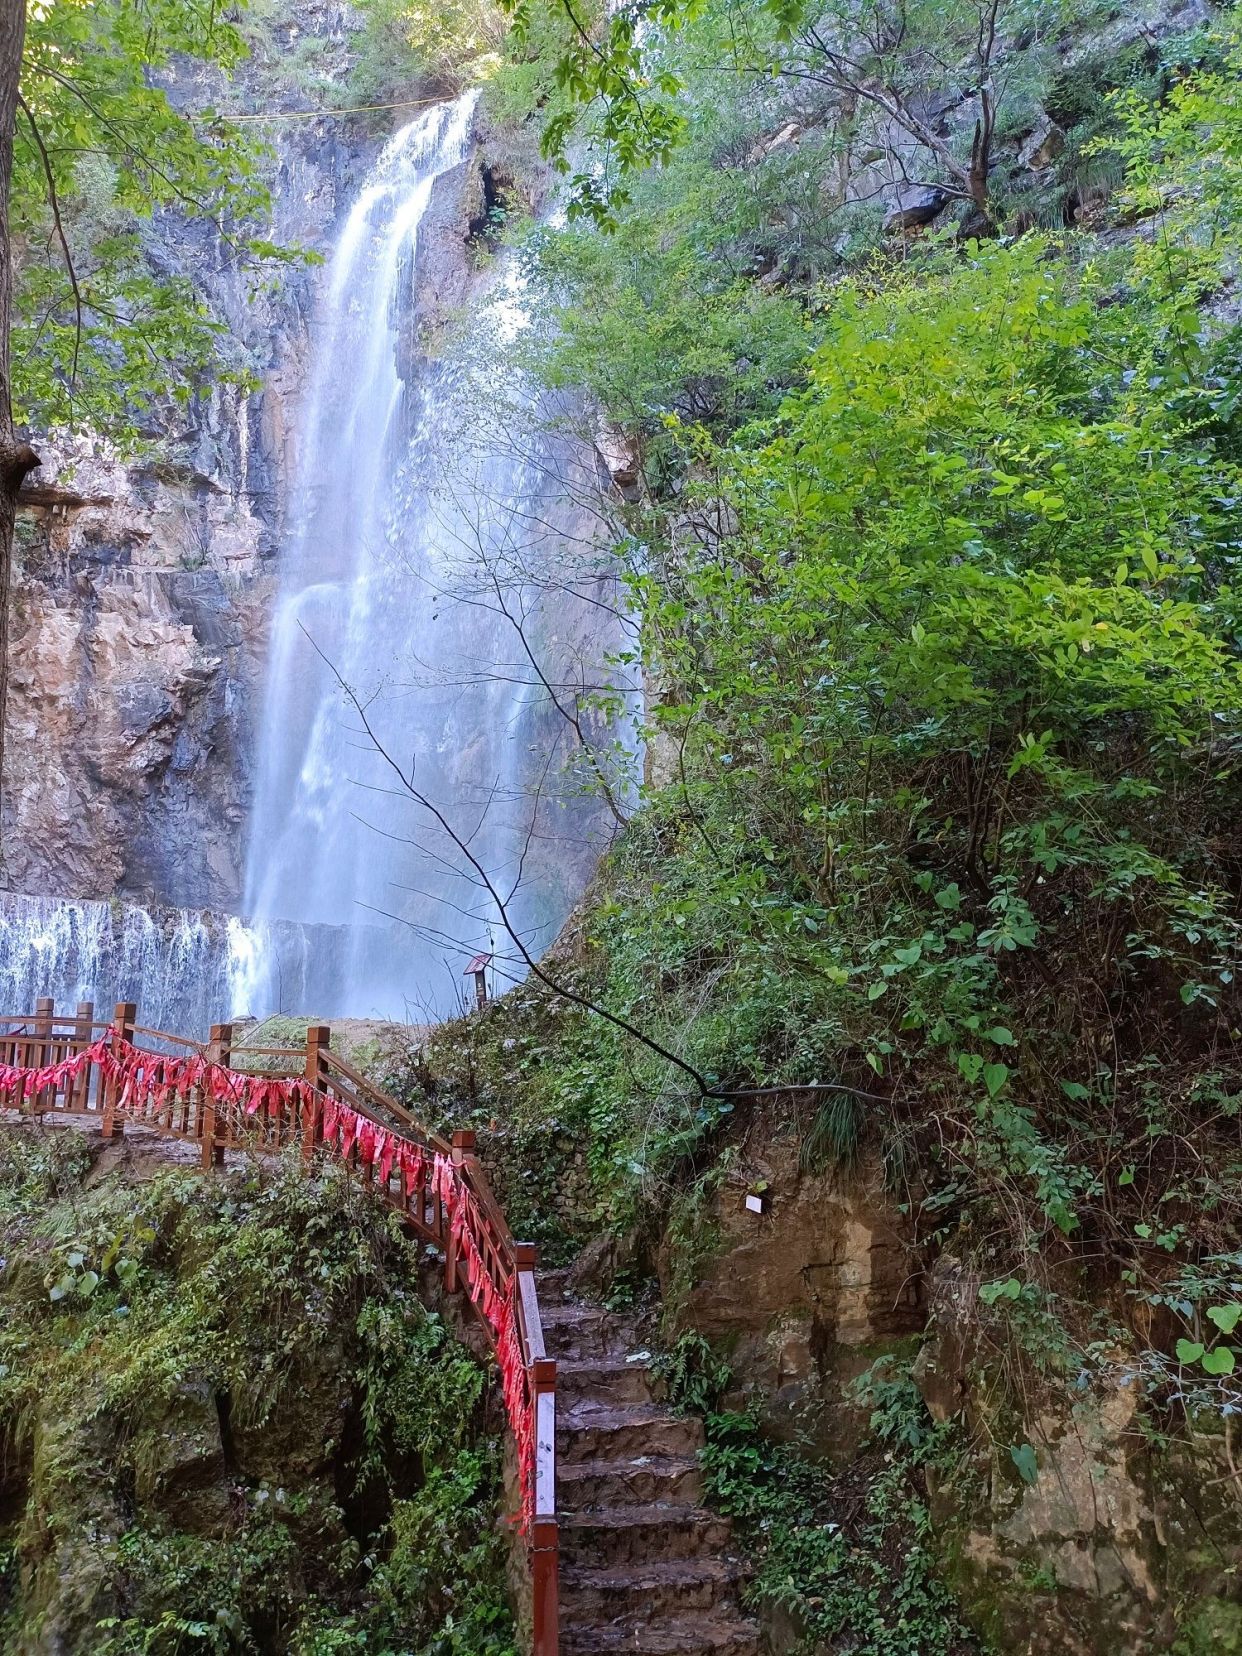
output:
M1073 1232L1091 1176L1045 1141L1023 1052L1081 1085L1091 1013L1047 962L1136 997L1163 972L1209 1017L1230 995L1206 833L1232 773L1196 818L1177 800L1235 717L1237 474L1169 397L1163 310L1101 313L1105 273L1048 253L840 288L770 439L699 449L732 532L636 581L686 783L609 936L657 939L652 992L710 982L707 1038L729 1007L719 1052L682 1037L707 1073L965 1095L975 1176L999 1158Z

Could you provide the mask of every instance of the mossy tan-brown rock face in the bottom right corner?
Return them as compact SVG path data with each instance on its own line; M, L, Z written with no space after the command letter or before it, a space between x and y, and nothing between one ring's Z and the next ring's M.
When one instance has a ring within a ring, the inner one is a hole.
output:
M997 1384L979 1287L954 1257L937 1260L914 1366L932 1416L964 1423L974 1446L951 1475L929 1475L939 1547L974 1625L1013 1656L1235 1649L1227 1600L1242 1530L1227 1434L1206 1421L1153 1431L1124 1374L1068 1388L1009 1370Z

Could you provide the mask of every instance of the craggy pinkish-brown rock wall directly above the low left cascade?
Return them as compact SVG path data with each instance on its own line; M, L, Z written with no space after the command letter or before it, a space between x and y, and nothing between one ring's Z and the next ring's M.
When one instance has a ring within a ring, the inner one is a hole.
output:
M61 445L13 596L7 874L23 891L233 906L268 581L243 495Z

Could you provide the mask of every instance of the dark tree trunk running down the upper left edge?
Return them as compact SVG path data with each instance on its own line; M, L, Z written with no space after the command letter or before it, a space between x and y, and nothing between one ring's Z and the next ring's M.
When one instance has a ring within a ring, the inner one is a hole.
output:
M3 767L8 714L8 591L13 575L17 492L40 459L13 431L8 369L8 325L13 305L13 248L8 240L8 192L13 179L13 124L26 36L26 0L0 0L0 868L3 866Z

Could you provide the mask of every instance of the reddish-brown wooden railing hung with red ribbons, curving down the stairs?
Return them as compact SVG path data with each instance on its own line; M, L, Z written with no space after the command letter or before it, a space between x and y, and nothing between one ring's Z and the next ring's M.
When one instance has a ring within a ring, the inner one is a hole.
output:
M432 1244L445 1290L470 1300L500 1363L518 1452L532 1651L556 1656L556 1365L543 1345L538 1250L513 1240L474 1133L444 1139L424 1128L331 1050L328 1025L311 1025L305 1047L233 1047L232 1025L217 1023L204 1045L144 1028L129 1002L111 1023L99 1023L89 1002L73 1017L56 1017L51 1000L0 1017L0 1105L96 1116L104 1139L126 1121L152 1128L197 1143L205 1169L230 1149L298 1144L308 1164L330 1151Z

